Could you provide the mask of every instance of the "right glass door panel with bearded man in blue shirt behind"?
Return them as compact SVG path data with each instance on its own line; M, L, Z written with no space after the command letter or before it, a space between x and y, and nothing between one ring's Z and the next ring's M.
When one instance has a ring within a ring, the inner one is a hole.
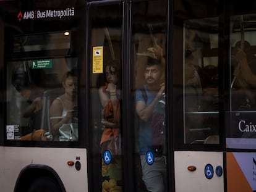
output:
M167 1L139 2L132 12L132 95L136 191L167 191Z

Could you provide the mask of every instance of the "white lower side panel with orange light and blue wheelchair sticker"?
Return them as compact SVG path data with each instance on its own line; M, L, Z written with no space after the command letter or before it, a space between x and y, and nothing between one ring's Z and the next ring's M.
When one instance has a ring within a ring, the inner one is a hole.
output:
M208 176L213 174L212 178L205 176L206 166L210 164ZM224 191L223 174L219 177L216 174L216 167L223 169L223 152L202 152L202 151L175 151L174 152L174 174L175 191ZM196 170L189 171L189 166L196 167Z

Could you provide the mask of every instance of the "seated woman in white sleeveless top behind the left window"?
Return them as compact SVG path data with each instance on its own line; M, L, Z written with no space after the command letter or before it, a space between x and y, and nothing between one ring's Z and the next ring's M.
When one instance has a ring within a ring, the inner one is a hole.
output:
M69 70L62 77L64 93L53 100L49 115L55 141L78 141L77 71Z

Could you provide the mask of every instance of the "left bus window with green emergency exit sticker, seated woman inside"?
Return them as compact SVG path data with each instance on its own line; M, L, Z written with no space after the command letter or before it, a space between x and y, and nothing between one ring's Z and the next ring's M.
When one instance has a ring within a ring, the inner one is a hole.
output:
M77 141L77 59L11 61L6 66L6 139Z

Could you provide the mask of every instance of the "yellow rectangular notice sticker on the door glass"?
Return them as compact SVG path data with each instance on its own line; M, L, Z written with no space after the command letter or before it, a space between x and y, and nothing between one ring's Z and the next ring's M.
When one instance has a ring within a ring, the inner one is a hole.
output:
M93 73L103 73L103 46L93 47Z

